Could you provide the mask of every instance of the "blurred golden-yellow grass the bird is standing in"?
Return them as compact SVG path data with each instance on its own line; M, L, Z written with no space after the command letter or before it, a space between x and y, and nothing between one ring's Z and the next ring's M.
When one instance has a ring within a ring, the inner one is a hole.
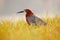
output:
M60 18L46 18L46 26L29 26L25 21L0 23L0 40L60 40Z

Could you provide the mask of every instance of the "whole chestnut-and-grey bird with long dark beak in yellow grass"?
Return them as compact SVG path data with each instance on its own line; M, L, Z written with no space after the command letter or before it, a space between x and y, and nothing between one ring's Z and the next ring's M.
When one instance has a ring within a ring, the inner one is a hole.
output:
M34 15L34 13L30 10L30 9L24 9L24 11L20 11L18 13L23 13L23 12L26 12L26 21L29 25L31 24L35 24L35 25L38 25L38 24L42 24L42 25L46 25L46 23L38 18L37 16Z

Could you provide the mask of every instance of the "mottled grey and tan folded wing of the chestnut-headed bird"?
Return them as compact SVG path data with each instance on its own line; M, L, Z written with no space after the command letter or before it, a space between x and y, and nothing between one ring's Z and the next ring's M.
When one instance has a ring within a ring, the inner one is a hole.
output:
M35 24L35 25L42 24L42 25L46 25L46 23L42 19L38 18L35 15L32 15L32 16L28 17L27 20L28 20L28 22L30 24Z

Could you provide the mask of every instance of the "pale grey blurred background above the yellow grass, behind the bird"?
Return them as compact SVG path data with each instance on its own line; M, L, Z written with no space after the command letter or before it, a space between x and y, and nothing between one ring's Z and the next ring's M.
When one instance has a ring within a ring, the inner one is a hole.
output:
M60 15L60 0L0 0L0 19L24 19L25 14L17 12L25 8L31 9L39 17L54 17Z

